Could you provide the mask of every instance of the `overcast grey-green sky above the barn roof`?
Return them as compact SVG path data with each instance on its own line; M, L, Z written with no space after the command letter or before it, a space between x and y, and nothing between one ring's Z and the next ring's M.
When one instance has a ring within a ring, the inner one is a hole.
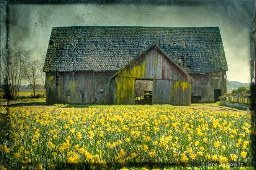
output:
M153 1L152 1L153 2ZM32 49L34 58L46 55L52 27L147 26L220 27L228 62L228 80L251 82L254 57L255 1L180 1L182 3L72 3L9 5L10 48ZM196 2L196 3L194 3ZM205 3L208 2L208 3ZM215 3L218 2L218 3Z

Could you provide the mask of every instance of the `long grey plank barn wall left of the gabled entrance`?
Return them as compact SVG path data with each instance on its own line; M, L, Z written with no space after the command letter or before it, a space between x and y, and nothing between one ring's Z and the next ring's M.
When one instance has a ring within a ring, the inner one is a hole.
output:
M110 78L114 74L115 72L47 73L47 103L113 104L114 84ZM58 85L56 75L59 75Z

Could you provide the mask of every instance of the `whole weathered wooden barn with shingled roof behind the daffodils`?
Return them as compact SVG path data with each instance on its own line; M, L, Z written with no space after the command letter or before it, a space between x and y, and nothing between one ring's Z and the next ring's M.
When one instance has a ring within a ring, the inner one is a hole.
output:
M189 105L224 95L228 66L218 27L59 27L43 70L49 104L134 104L152 80L152 104Z

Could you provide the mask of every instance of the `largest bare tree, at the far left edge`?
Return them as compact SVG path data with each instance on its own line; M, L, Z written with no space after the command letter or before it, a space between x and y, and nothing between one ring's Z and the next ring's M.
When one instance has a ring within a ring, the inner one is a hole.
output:
M1 72L10 86L11 99L18 99L20 84L27 76L30 56L30 50L21 48L1 53Z

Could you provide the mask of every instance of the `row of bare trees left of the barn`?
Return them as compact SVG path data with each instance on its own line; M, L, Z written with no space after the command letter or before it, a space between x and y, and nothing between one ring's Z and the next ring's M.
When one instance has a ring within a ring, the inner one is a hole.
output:
M3 98L17 100L20 85L24 82L31 84L32 96L36 97L36 85L43 85L43 97L46 93L45 74L43 73L44 59L32 59L31 50L16 48L1 50L0 82L4 82Z

